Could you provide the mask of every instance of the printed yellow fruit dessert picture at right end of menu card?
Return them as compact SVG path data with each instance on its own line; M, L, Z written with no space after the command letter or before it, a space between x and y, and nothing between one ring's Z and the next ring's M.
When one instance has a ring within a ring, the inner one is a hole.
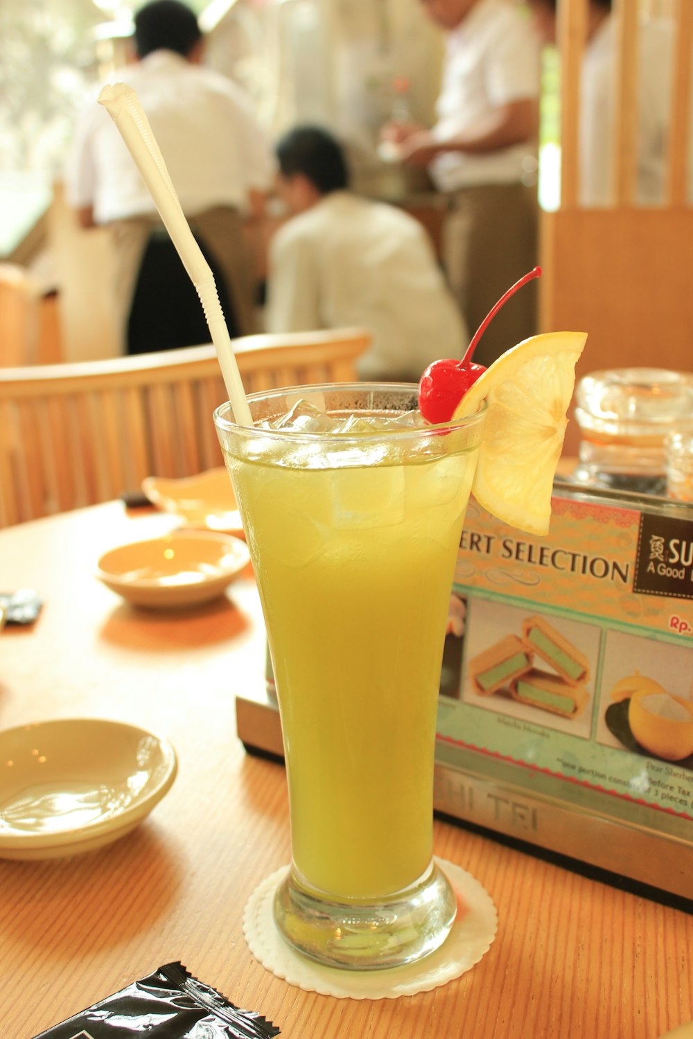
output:
M692 700L639 671L619 678L610 698L605 720L628 750L693 768Z

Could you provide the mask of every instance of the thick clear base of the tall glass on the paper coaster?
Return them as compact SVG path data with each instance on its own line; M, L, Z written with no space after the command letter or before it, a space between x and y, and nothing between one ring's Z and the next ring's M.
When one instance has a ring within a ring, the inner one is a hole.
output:
M401 966L432 953L456 911L455 894L435 862L389 899L330 901L302 885L293 870L274 896L274 918L289 944L318 963L352 970Z

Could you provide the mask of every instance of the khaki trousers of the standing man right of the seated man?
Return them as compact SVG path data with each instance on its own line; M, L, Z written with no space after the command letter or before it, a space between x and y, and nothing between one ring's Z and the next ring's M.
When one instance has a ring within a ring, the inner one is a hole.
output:
M473 336L503 293L537 263L536 188L490 184L451 194L443 230L448 282ZM537 328L536 282L496 315L474 361L488 366Z

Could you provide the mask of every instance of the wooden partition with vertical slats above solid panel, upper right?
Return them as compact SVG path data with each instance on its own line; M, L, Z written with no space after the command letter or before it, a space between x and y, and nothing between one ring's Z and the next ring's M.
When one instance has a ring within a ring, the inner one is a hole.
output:
M580 65L587 0L560 0L561 202L540 219L539 323L588 332L578 377L602 368L693 369L693 208L687 197L693 3L672 0L674 70L663 206L635 203L638 4L614 0L614 205L580 204ZM576 454L577 424L564 453Z

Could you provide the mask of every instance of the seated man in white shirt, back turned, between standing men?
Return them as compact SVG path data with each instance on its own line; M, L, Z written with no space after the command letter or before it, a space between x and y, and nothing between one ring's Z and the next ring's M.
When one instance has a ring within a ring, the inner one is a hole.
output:
M295 215L270 245L268 331L370 329L363 379L418 382L437 357L461 357L467 330L422 225L350 192L344 152L324 130L297 128L276 154Z

